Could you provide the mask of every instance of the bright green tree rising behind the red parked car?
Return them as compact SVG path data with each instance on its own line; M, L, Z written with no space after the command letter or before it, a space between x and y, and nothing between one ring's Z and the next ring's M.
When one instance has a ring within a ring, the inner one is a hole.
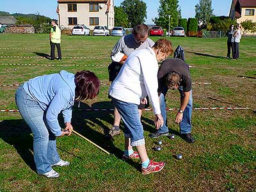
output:
M179 0L160 0L159 3L158 17L153 19L153 22L157 26L168 29L170 15L170 29L177 27L178 21L181 18Z

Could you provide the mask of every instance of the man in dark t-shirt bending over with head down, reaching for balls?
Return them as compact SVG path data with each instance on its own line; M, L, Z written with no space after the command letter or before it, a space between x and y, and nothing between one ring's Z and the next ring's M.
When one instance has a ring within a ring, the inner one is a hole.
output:
M188 143L194 143L195 140L191 134L191 116L192 116L192 83L189 72L189 66L180 59L164 60L158 70L158 92L161 106L161 114L164 118L164 125L157 132L150 134L151 138L168 136L169 129L167 125L165 95L170 90L179 90L180 92L180 110L176 115L175 123L180 125L180 135Z

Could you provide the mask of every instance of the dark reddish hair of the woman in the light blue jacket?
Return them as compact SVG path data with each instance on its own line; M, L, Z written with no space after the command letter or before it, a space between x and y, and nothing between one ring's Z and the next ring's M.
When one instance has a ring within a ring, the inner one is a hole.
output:
M95 98L99 93L100 80L93 72L82 70L75 75L76 100Z

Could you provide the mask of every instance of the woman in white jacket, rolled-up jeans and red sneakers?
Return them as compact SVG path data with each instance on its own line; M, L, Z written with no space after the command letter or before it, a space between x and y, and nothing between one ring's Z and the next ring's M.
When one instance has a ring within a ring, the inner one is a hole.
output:
M145 97L148 95L156 115L155 127L159 129L163 126L157 93L157 61L164 60L172 52L172 43L166 39L157 40L152 48L147 47L132 52L109 88L112 102L124 122L125 152L123 158L141 159L143 175L161 171L164 162L154 162L148 159L138 105L147 103ZM138 152L135 152L132 147L136 147Z

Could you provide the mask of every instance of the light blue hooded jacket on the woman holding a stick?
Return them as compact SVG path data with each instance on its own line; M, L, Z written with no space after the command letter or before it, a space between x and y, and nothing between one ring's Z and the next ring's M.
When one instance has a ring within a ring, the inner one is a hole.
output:
M75 76L65 70L30 79L24 90L46 112L46 123L55 136L61 135L58 115L62 111L64 122L71 122L75 100Z

